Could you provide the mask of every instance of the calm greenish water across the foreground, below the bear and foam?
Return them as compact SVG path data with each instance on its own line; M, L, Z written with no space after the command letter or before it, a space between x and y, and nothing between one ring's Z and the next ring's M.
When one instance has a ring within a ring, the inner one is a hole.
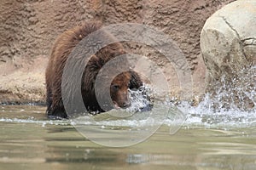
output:
M68 121L49 121L43 106L0 106L0 169L256 169L256 127L163 125L125 148L92 143ZM125 134L124 134L125 135Z

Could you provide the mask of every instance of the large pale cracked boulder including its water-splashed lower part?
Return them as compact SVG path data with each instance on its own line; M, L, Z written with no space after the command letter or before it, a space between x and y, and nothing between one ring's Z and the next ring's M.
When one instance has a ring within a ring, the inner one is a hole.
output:
M255 108L256 0L230 3L201 31L207 92L221 105Z

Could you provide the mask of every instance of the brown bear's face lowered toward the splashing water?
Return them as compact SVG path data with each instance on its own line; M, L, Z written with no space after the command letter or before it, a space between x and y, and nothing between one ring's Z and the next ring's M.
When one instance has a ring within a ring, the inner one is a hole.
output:
M113 78L110 85L110 95L116 108L127 108L131 105L128 89L130 88L131 73L125 71Z

